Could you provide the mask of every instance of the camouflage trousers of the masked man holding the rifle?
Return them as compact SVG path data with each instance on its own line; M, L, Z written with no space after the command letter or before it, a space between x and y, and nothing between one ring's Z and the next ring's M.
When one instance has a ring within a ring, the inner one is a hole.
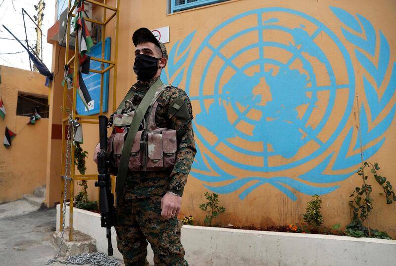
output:
M180 242L181 222L176 217L161 216L161 198L117 202L117 246L126 266L148 266L148 242L154 252L155 266L188 266Z

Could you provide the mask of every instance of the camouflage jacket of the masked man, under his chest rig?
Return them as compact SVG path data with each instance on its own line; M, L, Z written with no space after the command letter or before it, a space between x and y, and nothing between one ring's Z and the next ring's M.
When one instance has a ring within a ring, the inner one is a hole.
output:
M155 80L150 80L148 84L138 82L131 87L131 90L135 91L130 99L134 106L140 104ZM129 171L124 190L127 199L164 195L167 191L182 195L197 152L192 124L193 110L186 92L180 88L168 86L159 96L157 102L158 107L155 113L157 127L176 130L175 166L170 170L154 172ZM181 106L179 110L172 108L175 102ZM148 121L148 112L145 119Z

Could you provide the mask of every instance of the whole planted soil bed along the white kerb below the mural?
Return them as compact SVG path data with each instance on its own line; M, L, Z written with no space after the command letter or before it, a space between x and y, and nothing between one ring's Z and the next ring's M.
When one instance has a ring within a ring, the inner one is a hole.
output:
M219 225L213 223L221 213L226 211L225 207L219 206L220 199L218 194L205 192L207 202L199 205L199 209L206 213L203 220L203 226L215 226L221 228L245 229L245 230L259 230L259 231L276 231L276 232L294 232L294 233L315 233L315 234L331 234L331 235L347 235L354 237L371 237L392 239L392 237L384 231L371 228L369 223L369 214L373 210L373 198L371 197L372 187L367 183L369 178L365 174L365 169L369 169L371 176L384 190L386 197L386 204L392 204L396 201L396 194L393 190L392 184L384 176L378 174L380 167L378 163L362 162L362 166L357 171L357 175L362 178L362 186L356 187L349 197L350 205L350 220L351 222L341 229L340 224L335 224L331 228L323 226L324 217L321 214L322 199L319 195L313 195L313 199L307 203L306 212L303 214L304 223L289 224L285 226L270 226L267 228L259 228L255 226L234 226L232 224ZM367 171L367 170L366 170ZM194 225L194 218L192 215L186 216L182 219L184 225ZM197 226L202 226L196 224Z

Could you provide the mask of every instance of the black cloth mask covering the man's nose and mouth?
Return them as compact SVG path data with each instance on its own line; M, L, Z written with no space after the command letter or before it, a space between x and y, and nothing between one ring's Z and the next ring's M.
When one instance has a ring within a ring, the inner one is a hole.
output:
M138 75L138 79L141 81L150 80L157 73L159 59L147 54L138 54L133 64L133 71Z

